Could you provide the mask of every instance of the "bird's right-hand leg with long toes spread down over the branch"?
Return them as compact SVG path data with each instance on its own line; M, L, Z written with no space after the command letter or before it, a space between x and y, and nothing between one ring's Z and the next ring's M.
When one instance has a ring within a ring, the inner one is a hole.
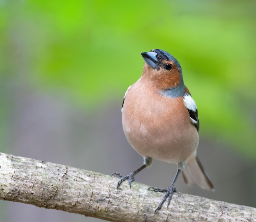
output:
M173 193L177 192L176 188L174 187L174 183L176 182L177 178L179 177L180 173L182 172L184 166L185 166L185 162L179 163L179 166L178 166L177 172L175 174L175 177L173 179L173 182L170 186L168 186L168 188L166 188L166 189L161 189L161 188L157 188L157 187L149 187L148 188L148 190L151 190L151 191L165 192L163 199L161 200L160 204L157 206L157 209L155 209L155 213L162 208L162 206L167 198L168 198L168 202L167 202L167 208L168 208L169 204L171 203Z

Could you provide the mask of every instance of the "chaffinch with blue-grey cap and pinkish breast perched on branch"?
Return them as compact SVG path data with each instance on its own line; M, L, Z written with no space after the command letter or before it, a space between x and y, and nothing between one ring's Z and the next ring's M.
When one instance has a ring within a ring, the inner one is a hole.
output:
M198 109L189 89L184 85L180 63L168 52L153 49L143 52L145 64L141 77L128 87L122 104L122 126L126 139L143 158L137 170L122 176L117 183L134 182L134 176L151 166L153 159L177 164L177 172L170 186L165 189L149 187L148 190L164 192L159 211L166 199L167 208L176 192L174 186L180 173L188 185L197 184L214 190L197 155L199 144Z

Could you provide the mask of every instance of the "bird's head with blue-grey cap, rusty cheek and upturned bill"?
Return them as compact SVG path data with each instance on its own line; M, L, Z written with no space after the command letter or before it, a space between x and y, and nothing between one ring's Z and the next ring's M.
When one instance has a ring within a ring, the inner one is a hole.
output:
M150 78L164 96L175 98L184 95L182 68L176 58L162 49L153 49L141 55L146 62L143 78Z

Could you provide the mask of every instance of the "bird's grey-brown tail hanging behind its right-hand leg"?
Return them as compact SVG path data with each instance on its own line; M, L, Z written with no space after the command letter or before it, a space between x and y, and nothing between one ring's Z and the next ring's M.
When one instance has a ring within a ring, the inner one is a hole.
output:
M214 191L213 183L210 177L204 171L204 168L197 156L191 156L186 161L187 164L182 170L184 181L187 185L197 184L203 189Z

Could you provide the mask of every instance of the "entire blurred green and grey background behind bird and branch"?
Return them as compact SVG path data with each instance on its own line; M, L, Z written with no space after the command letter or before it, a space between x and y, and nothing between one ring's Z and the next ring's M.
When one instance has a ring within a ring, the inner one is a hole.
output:
M216 185L210 193L179 179L178 191L256 207L255 9L250 0L0 0L0 152L106 174L141 166L121 103L140 53L164 49L197 103L198 155ZM175 170L154 161L135 180L167 187ZM23 205L0 202L0 221L99 221Z

